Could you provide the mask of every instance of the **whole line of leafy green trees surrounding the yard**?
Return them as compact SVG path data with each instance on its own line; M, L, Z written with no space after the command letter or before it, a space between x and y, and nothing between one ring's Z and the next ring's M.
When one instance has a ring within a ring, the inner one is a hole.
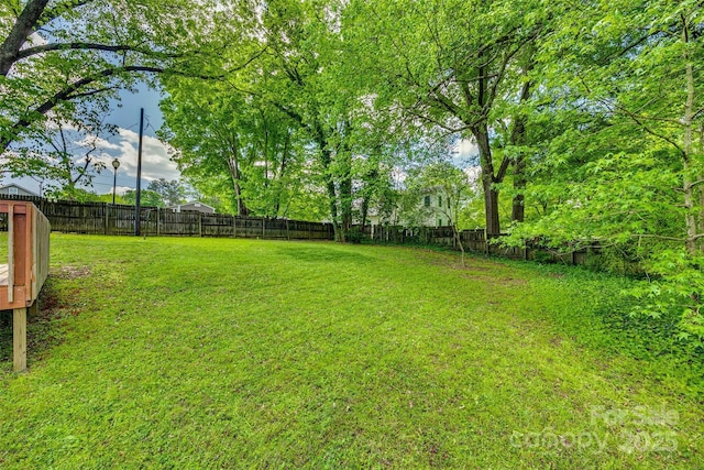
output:
M3 166L35 172L62 127L109 132L116 90L158 81L174 161L239 215L324 218L344 241L432 182L464 194L455 225L481 217L503 243L598 245L636 266L642 311L676 313L701 340L701 7L13 0ZM452 170L468 141L474 186Z

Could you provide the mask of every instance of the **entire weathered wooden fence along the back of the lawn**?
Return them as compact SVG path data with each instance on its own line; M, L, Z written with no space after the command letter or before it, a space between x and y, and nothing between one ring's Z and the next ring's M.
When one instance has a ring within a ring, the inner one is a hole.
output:
M7 196L6 199L34 203L51 222L52 230L73 233L133 234L134 206L106 203L47 200L33 196ZM7 218L0 214L0 230L7 230ZM356 226L363 236L384 243L426 243L459 250L452 227L405 228L402 226ZM174 212L170 209L142 207L140 232L144 236L232 237L278 240L333 240L331 223L300 220L238 217L196 211ZM506 248L487 243L484 229L460 232L468 252L495 254L517 260L543 260L566 264L586 264L598 250L582 249L558 252L538 244Z

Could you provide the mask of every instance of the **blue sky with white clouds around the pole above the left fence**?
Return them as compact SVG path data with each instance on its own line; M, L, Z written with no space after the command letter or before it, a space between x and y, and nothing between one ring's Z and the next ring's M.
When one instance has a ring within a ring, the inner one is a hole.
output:
M158 102L161 92L150 89L145 84L138 86L136 92L121 91L121 100L113 101L111 112L106 118L106 123L116 124L119 128L117 135L109 135L99 140L99 160L107 164L107 170L96 175L92 181L92 190L98 194L112 192L113 159L120 161L118 170L118 193L136 187L136 153L140 131L140 108L144 108L144 141L142 153L142 187L145 188L150 181L164 177L177 179L179 173L176 164L169 161L166 147L156 139L156 131L164 122ZM121 103L121 106L119 106ZM18 183L23 187L38 193L40 185L32 178L6 177L2 184Z

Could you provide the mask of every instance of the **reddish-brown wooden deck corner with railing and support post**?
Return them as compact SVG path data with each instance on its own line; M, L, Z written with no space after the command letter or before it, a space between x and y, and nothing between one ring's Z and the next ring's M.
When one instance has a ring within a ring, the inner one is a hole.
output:
M29 201L0 200L8 220L8 260L0 264L0 310L12 310L12 357L16 372L26 369L26 310L48 275L51 227ZM0 260L1 263L2 260Z

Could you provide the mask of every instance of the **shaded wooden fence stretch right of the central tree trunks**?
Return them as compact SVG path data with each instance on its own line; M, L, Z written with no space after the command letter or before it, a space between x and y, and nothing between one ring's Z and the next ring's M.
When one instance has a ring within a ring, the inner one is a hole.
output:
M426 243L460 250L452 227L420 227L405 228L402 226L367 226L358 227L370 240L385 243ZM460 232L462 247L468 252L494 254L513 260L541 260L564 264L584 265L591 256L598 255L596 249L580 249L557 251L529 243L525 248L502 247L488 243L484 229L462 230Z

